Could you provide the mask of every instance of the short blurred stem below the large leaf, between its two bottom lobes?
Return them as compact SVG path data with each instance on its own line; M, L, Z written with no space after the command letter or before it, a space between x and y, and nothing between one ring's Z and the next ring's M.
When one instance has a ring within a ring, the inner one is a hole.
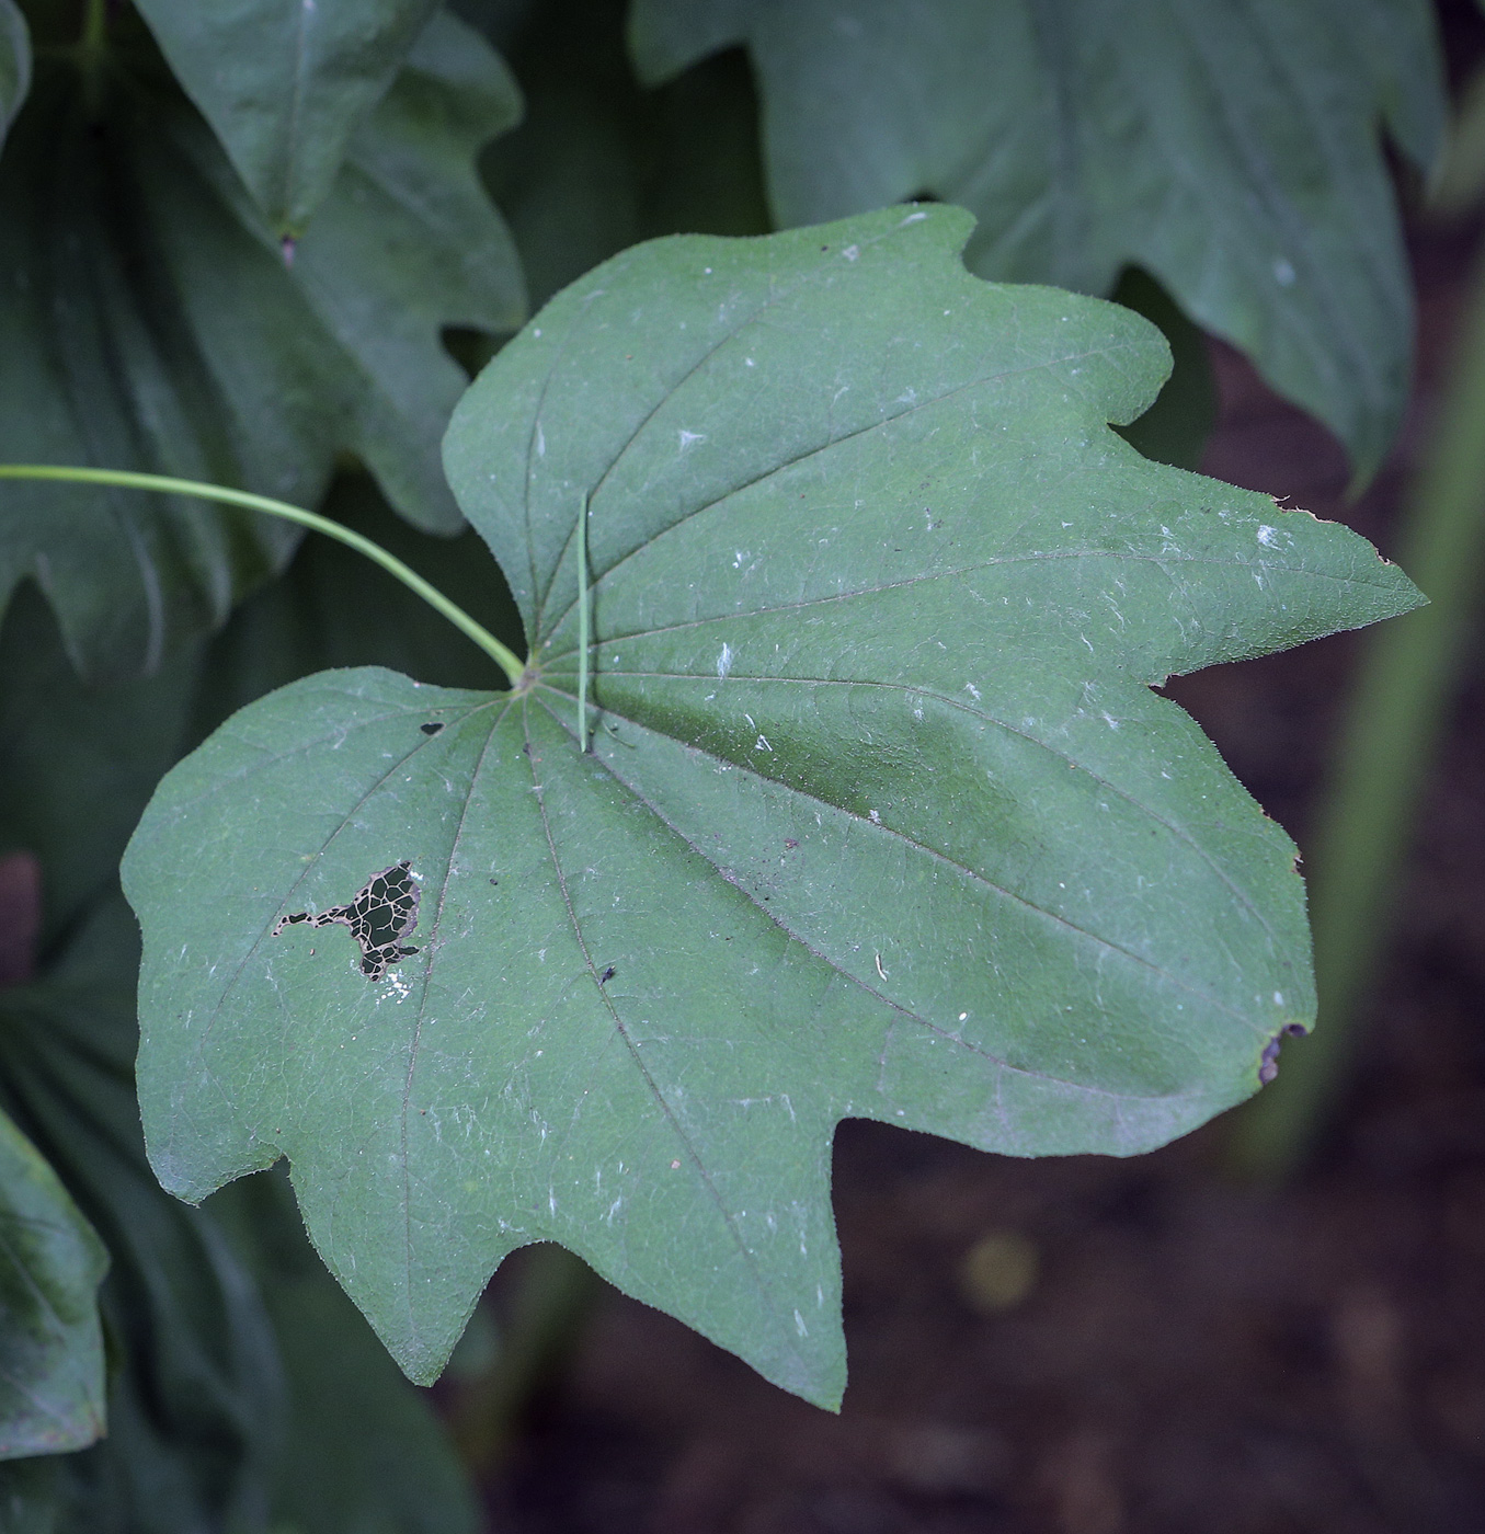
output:
M592 1269L565 1247L531 1247L519 1261L500 1351L449 1413L454 1445L476 1480L505 1459L531 1404L561 1374L600 1293Z

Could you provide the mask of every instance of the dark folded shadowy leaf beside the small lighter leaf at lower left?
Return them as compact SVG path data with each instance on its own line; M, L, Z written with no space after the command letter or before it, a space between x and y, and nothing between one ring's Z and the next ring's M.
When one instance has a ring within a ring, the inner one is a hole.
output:
M206 1210L161 1192L133 1094L138 937L117 891L32 985L0 991L0 1092L112 1256L107 1437L68 1456L66 1534L262 1526L285 1427L273 1332ZM43 1525L44 1526L44 1525Z

